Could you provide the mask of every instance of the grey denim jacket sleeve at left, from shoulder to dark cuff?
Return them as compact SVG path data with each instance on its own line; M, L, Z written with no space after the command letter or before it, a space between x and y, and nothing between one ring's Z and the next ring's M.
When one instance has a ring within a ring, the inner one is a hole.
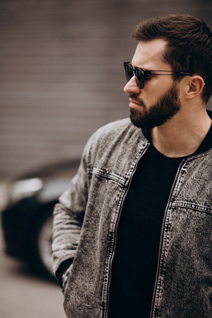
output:
M118 123L119 122L119 123ZM89 196L89 187L92 180L88 178L88 172L100 158L104 158L106 140L114 139L114 130L120 126L124 132L130 123L130 119L120 120L106 124L97 130L84 148L81 163L76 176L72 179L69 189L59 198L53 212L53 242L52 260L53 271L60 277L67 266L73 262L80 240L84 214ZM132 125L130 123L130 125Z

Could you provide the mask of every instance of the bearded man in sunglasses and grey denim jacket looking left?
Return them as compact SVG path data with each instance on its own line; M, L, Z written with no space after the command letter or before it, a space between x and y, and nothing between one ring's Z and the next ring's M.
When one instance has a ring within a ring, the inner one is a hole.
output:
M212 317L212 34L140 23L130 119L88 141L54 209L54 271L72 318Z

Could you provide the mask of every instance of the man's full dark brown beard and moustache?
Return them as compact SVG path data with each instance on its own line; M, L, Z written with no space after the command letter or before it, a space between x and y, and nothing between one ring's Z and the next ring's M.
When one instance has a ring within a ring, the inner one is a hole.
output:
M141 105L139 110L130 109L130 120L139 128L154 128L163 125L180 109L179 92L175 83L148 110L145 103L137 97L137 94L129 94L129 97Z

